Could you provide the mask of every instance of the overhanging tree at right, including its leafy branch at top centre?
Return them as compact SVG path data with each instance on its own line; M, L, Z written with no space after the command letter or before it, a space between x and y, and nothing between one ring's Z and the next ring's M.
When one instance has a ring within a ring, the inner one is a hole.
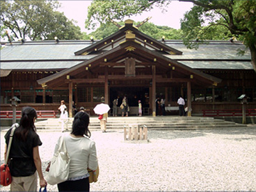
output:
M184 44L189 48L196 48L202 40L212 37L207 33L214 33L222 26L225 37L234 35L242 40L250 49L253 69L256 71L256 1L243 0L179 0L194 3L191 11L182 19ZM167 6L170 1L101 1L94 0L88 8L87 26L109 22L111 19L123 19L125 16L141 14L152 10L153 5ZM223 36L223 35L222 35ZM191 42L191 40L198 40ZM243 51L240 51L242 53Z

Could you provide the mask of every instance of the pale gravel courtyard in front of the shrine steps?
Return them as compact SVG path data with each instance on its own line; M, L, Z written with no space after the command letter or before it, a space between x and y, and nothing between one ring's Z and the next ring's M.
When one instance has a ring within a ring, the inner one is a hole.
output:
M6 130L1 131L1 164L4 134ZM61 131L38 134L46 175ZM149 142L123 138L122 130L92 132L99 180L90 185L91 191L256 191L256 128L150 130ZM48 185L47 190L57 187Z

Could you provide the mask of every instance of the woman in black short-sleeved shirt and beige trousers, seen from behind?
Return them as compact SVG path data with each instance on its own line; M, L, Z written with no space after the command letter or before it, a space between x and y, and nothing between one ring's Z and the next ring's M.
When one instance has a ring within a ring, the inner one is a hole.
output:
M38 175L40 187L47 185L42 175L42 163L38 150L38 146L41 146L42 142L35 132L34 123L37 117L33 107L22 108L22 118L13 134L10 147L9 166L10 174L13 177L10 191L38 191ZM5 135L6 149L8 148L12 128ZM38 171L38 175L36 171Z

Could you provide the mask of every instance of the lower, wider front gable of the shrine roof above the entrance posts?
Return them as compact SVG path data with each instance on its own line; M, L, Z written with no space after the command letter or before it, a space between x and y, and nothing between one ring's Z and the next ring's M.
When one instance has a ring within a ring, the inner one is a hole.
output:
M115 48L97 55L91 60L86 60L84 62L81 62L80 64L77 64L74 67L65 69L46 78L42 78L38 80L38 83L41 85L48 85L49 83L56 83L56 80L58 78L63 81L66 75L69 75L71 77L81 76L86 73L86 67L90 69L91 73L96 73L99 70L99 67L104 64L109 67L111 67L111 64L115 66L118 63L121 66L124 66L125 58L135 58L137 67L148 67L148 65L154 64L157 66L157 68L165 71L170 71L173 67L175 67L175 72L181 74L184 77L189 77L191 74L193 74L195 79L199 78L200 80L204 80L204 82L208 82L209 84L212 84L214 82L221 82L221 79L219 78L209 76L198 70L192 69L191 67L186 67L186 65L167 58L161 53L147 49L145 46L134 40L127 40L126 42L115 46Z

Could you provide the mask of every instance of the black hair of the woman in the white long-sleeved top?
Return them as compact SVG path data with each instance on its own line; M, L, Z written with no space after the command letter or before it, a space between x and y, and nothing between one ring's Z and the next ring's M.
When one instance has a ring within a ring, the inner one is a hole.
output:
M89 114L86 112L78 112L74 116L71 133L74 134L75 136L83 136L83 134L85 134L87 137L90 137L90 130L88 130L89 123Z

